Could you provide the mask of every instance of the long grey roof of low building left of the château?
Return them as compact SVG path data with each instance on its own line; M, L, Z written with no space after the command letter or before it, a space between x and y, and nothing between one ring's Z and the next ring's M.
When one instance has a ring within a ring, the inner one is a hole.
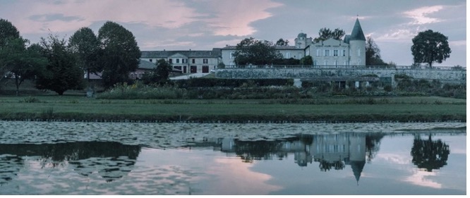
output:
M140 58L167 58L174 54L182 54L188 58L218 58L222 56L220 48L212 50L178 50L178 51L141 51Z

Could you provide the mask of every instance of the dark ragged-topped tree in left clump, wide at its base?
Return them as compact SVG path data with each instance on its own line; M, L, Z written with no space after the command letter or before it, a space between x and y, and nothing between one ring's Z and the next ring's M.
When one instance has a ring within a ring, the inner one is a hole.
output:
M83 88L83 70L76 61L76 56L68 49L65 39L49 35L41 38L42 54L49 63L46 70L38 75L37 89L50 89L59 95L68 89Z

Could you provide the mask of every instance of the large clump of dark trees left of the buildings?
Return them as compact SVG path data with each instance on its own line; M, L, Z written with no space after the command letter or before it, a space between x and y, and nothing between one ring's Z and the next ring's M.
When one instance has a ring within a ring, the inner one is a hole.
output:
M129 81L138 68L140 49L132 32L107 21L98 35L81 27L68 40L49 34L30 44L8 20L0 19L0 80L14 78L16 93L25 80L35 80L37 89L61 95L68 89L83 89L85 78L99 75L104 87Z

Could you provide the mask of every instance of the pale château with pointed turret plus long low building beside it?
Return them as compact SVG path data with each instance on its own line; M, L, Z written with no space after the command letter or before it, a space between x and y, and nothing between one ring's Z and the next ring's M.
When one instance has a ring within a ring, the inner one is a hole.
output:
M344 39L327 39L313 42L312 37L301 32L295 39L294 46L276 46L284 58L301 59L311 56L313 65L318 66L361 66L366 64L366 37L361 24L356 19L351 35ZM214 48L207 51L142 51L138 70L130 77L140 78L147 70L155 68L159 59L171 63L174 71L180 73L210 73L220 63L226 66L236 65L233 53L235 46Z

